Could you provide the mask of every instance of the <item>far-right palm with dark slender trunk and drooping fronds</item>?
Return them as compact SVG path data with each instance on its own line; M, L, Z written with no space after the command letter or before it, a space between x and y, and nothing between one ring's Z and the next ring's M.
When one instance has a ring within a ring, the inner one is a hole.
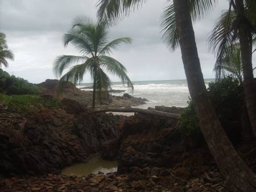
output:
M240 44L243 88L254 136L256 136L256 86L253 76L252 48L253 37L256 35L255 9L256 1L231 0L229 10L222 12L209 36L210 48L217 56L214 66L217 78L220 78L224 72L223 60L232 57L233 49L236 49L234 45Z

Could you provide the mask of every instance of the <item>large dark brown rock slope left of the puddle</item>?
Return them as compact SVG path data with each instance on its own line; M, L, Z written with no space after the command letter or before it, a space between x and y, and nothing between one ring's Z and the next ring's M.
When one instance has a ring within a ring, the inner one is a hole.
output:
M122 116L73 112L34 108L22 115L0 111L1 117L6 114L0 126L0 174L55 172L85 160L99 152L106 140L119 136Z

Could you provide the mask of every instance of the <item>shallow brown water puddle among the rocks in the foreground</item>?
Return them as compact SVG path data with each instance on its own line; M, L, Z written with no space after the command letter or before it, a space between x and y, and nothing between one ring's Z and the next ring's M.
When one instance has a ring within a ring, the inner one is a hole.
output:
M98 172L112 173L117 171L117 161L102 160L99 155L90 157L86 162L75 164L64 168L61 172L67 176L73 174L75 176L86 176L90 173L97 174Z

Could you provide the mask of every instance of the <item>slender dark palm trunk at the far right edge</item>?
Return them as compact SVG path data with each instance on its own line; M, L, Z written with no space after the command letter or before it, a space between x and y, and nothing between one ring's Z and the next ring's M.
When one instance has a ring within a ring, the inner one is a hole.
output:
M248 24L243 21L245 10L242 0L236 0L237 18L240 19L239 38L243 68L243 87L245 90L246 107L249 114L251 128L256 137L256 86L253 77L252 57L252 36Z

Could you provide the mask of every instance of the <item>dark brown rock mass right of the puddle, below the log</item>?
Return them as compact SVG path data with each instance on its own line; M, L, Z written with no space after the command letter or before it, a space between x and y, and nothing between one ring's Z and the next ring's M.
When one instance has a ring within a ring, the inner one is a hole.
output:
M173 168L188 159L191 164L197 162L195 170L197 166L207 164L212 157L203 138L200 146L199 141L185 141L174 128L176 123L175 119L154 119L144 115L127 118L118 152L118 173L127 173L133 166Z

